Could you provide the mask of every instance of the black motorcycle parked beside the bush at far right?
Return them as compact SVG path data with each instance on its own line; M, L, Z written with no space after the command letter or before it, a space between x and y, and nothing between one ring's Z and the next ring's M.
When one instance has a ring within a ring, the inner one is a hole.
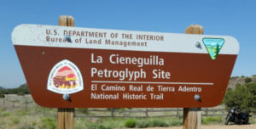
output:
M249 113L249 110L247 112L243 112L242 109L232 108L225 119L225 125L228 125L230 121L239 125L247 124L249 122L249 117L252 117Z

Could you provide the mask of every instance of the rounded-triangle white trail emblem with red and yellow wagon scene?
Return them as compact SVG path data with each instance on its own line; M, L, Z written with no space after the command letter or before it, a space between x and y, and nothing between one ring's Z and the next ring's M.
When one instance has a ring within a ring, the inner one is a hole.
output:
M47 89L61 94L82 91L84 83L79 68L67 59L55 64L49 72Z

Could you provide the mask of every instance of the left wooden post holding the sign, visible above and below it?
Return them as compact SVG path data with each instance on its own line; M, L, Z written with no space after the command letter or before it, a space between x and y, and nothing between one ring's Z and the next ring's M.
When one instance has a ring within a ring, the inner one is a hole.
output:
M59 26L74 26L74 19L72 16L61 15L59 18ZM58 129L73 129L74 109L58 109Z

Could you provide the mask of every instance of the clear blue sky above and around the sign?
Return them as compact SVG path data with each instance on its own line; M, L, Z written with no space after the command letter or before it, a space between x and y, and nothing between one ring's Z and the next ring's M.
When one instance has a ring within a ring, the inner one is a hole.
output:
M234 36L240 52L232 76L256 75L255 0L3 0L0 4L0 86L26 83L11 33L20 24L58 25L72 15L76 27Z

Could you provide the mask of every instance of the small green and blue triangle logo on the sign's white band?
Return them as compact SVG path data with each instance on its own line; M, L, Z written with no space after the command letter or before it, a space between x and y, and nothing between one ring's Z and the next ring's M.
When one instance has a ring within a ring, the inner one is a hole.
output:
M212 60L217 59L218 53L224 45L223 38L208 38L205 37L202 40L207 48L207 52L210 54Z

